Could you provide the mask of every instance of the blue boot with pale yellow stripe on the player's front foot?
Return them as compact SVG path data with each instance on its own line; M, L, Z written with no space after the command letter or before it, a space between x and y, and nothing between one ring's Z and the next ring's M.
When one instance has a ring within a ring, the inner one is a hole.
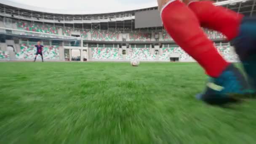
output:
M205 91L198 94L196 98L207 104L223 105L239 102L240 100L235 98L236 95L251 93L254 91L250 89L240 70L230 64L219 77L210 77Z

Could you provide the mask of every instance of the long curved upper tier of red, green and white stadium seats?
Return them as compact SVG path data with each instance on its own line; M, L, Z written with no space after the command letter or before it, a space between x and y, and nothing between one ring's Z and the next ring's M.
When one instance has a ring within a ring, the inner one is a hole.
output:
M2 19L3 20L3 19ZM13 21L9 19L7 21ZM64 36L76 36L83 37L84 40L93 40L93 41L131 41L131 42L151 42L151 41L173 41L172 38L168 35L165 30L160 32L155 31L108 31L108 30L99 30L99 29L79 29L72 27L59 27L54 26L53 24L43 24L35 23L29 21L13 21L5 22L0 19L0 27L10 28L10 29L20 29L22 31L17 31L16 35L27 35L33 36L32 32L40 32L45 34L54 34L54 35L64 35ZM5 31L6 32L6 31ZM205 30L206 34L212 40L223 39L224 36L218 32ZM6 32L7 33L7 32ZM32 35L31 35L32 34ZM157 36L156 36L157 35ZM44 37L49 37L45 35ZM51 35L50 35L51 36ZM158 38L157 38L158 37Z

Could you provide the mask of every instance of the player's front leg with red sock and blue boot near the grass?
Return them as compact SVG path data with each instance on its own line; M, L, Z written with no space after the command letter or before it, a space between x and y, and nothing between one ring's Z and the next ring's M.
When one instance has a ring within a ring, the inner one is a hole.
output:
M187 5L178 0L168 3L161 11L161 17L173 40L211 77L200 99L211 104L223 104L232 100L228 96L230 93L246 93L247 85L243 75L220 56Z

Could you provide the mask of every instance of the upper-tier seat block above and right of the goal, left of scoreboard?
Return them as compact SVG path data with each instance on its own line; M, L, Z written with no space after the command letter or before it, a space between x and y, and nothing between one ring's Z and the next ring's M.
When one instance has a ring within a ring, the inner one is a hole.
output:
M117 41L119 39L120 32L110 32L105 30L92 30L91 38L92 40L101 41Z

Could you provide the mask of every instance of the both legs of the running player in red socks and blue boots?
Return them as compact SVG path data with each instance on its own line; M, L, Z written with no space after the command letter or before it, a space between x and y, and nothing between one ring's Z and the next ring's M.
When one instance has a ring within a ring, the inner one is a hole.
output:
M233 94L254 93L253 89L256 87L251 89L239 69L224 60L200 26L222 32L228 40L234 41L245 71L252 77L251 85L256 86L256 57L253 56L253 53L256 54L256 48L253 48L256 33L252 32L256 31L256 21L248 20L223 7L216 7L207 1L185 2L189 7L180 0L157 2L168 34L205 69L210 77L205 91L197 95L198 99L208 104L226 104L236 101L232 97Z

